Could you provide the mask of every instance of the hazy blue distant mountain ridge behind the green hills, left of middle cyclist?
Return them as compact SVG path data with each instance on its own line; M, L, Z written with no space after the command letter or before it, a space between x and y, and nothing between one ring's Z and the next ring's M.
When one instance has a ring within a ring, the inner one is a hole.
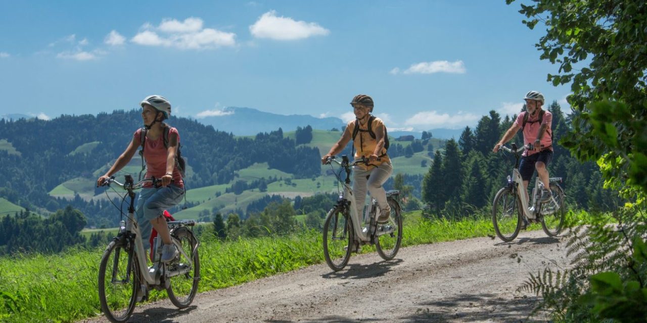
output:
M236 136L253 136L259 132L270 132L279 128L283 131L294 131L297 127L307 125L320 130L341 129L344 126L340 118L316 118L307 114L286 116L245 107L226 107L219 116L206 116L197 121Z

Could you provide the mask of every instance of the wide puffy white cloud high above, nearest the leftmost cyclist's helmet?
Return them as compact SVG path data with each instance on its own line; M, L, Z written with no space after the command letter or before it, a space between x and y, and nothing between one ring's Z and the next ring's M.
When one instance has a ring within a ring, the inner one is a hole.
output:
M162 36L158 32L163 33ZM175 47L180 49L204 49L236 45L236 34L212 28L203 28L200 18L190 17L184 22L165 19L155 27L149 23L142 26L131 39L133 43L144 46Z

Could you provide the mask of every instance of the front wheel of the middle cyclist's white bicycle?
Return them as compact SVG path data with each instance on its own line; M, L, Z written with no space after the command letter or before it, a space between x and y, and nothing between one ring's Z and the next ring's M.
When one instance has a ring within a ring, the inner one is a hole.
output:
M339 205L328 212L323 224L323 256L334 271L344 269L351 258L353 222L348 212Z

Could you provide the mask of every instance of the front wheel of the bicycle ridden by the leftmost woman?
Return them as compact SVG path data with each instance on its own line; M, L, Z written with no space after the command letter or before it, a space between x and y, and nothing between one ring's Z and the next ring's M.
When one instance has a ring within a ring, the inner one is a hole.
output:
M132 244L111 242L99 265L99 302L111 322L126 322L135 309L139 270Z

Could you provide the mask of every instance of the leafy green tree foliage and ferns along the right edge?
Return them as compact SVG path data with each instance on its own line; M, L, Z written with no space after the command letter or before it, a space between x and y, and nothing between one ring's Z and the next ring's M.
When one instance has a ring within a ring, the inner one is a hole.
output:
M645 322L647 3L536 0L521 4L520 13L529 28L547 27L536 47L541 59L559 65L547 80L571 85L571 128L560 143L579 160L597 161L602 174L589 176L588 185L585 172L574 176L576 194L584 198L603 178L605 187L631 202L614 214L617 226L596 218L584 233L573 234L576 260L563 275L567 284L549 279L528 286L542 292L543 306L559 320Z

